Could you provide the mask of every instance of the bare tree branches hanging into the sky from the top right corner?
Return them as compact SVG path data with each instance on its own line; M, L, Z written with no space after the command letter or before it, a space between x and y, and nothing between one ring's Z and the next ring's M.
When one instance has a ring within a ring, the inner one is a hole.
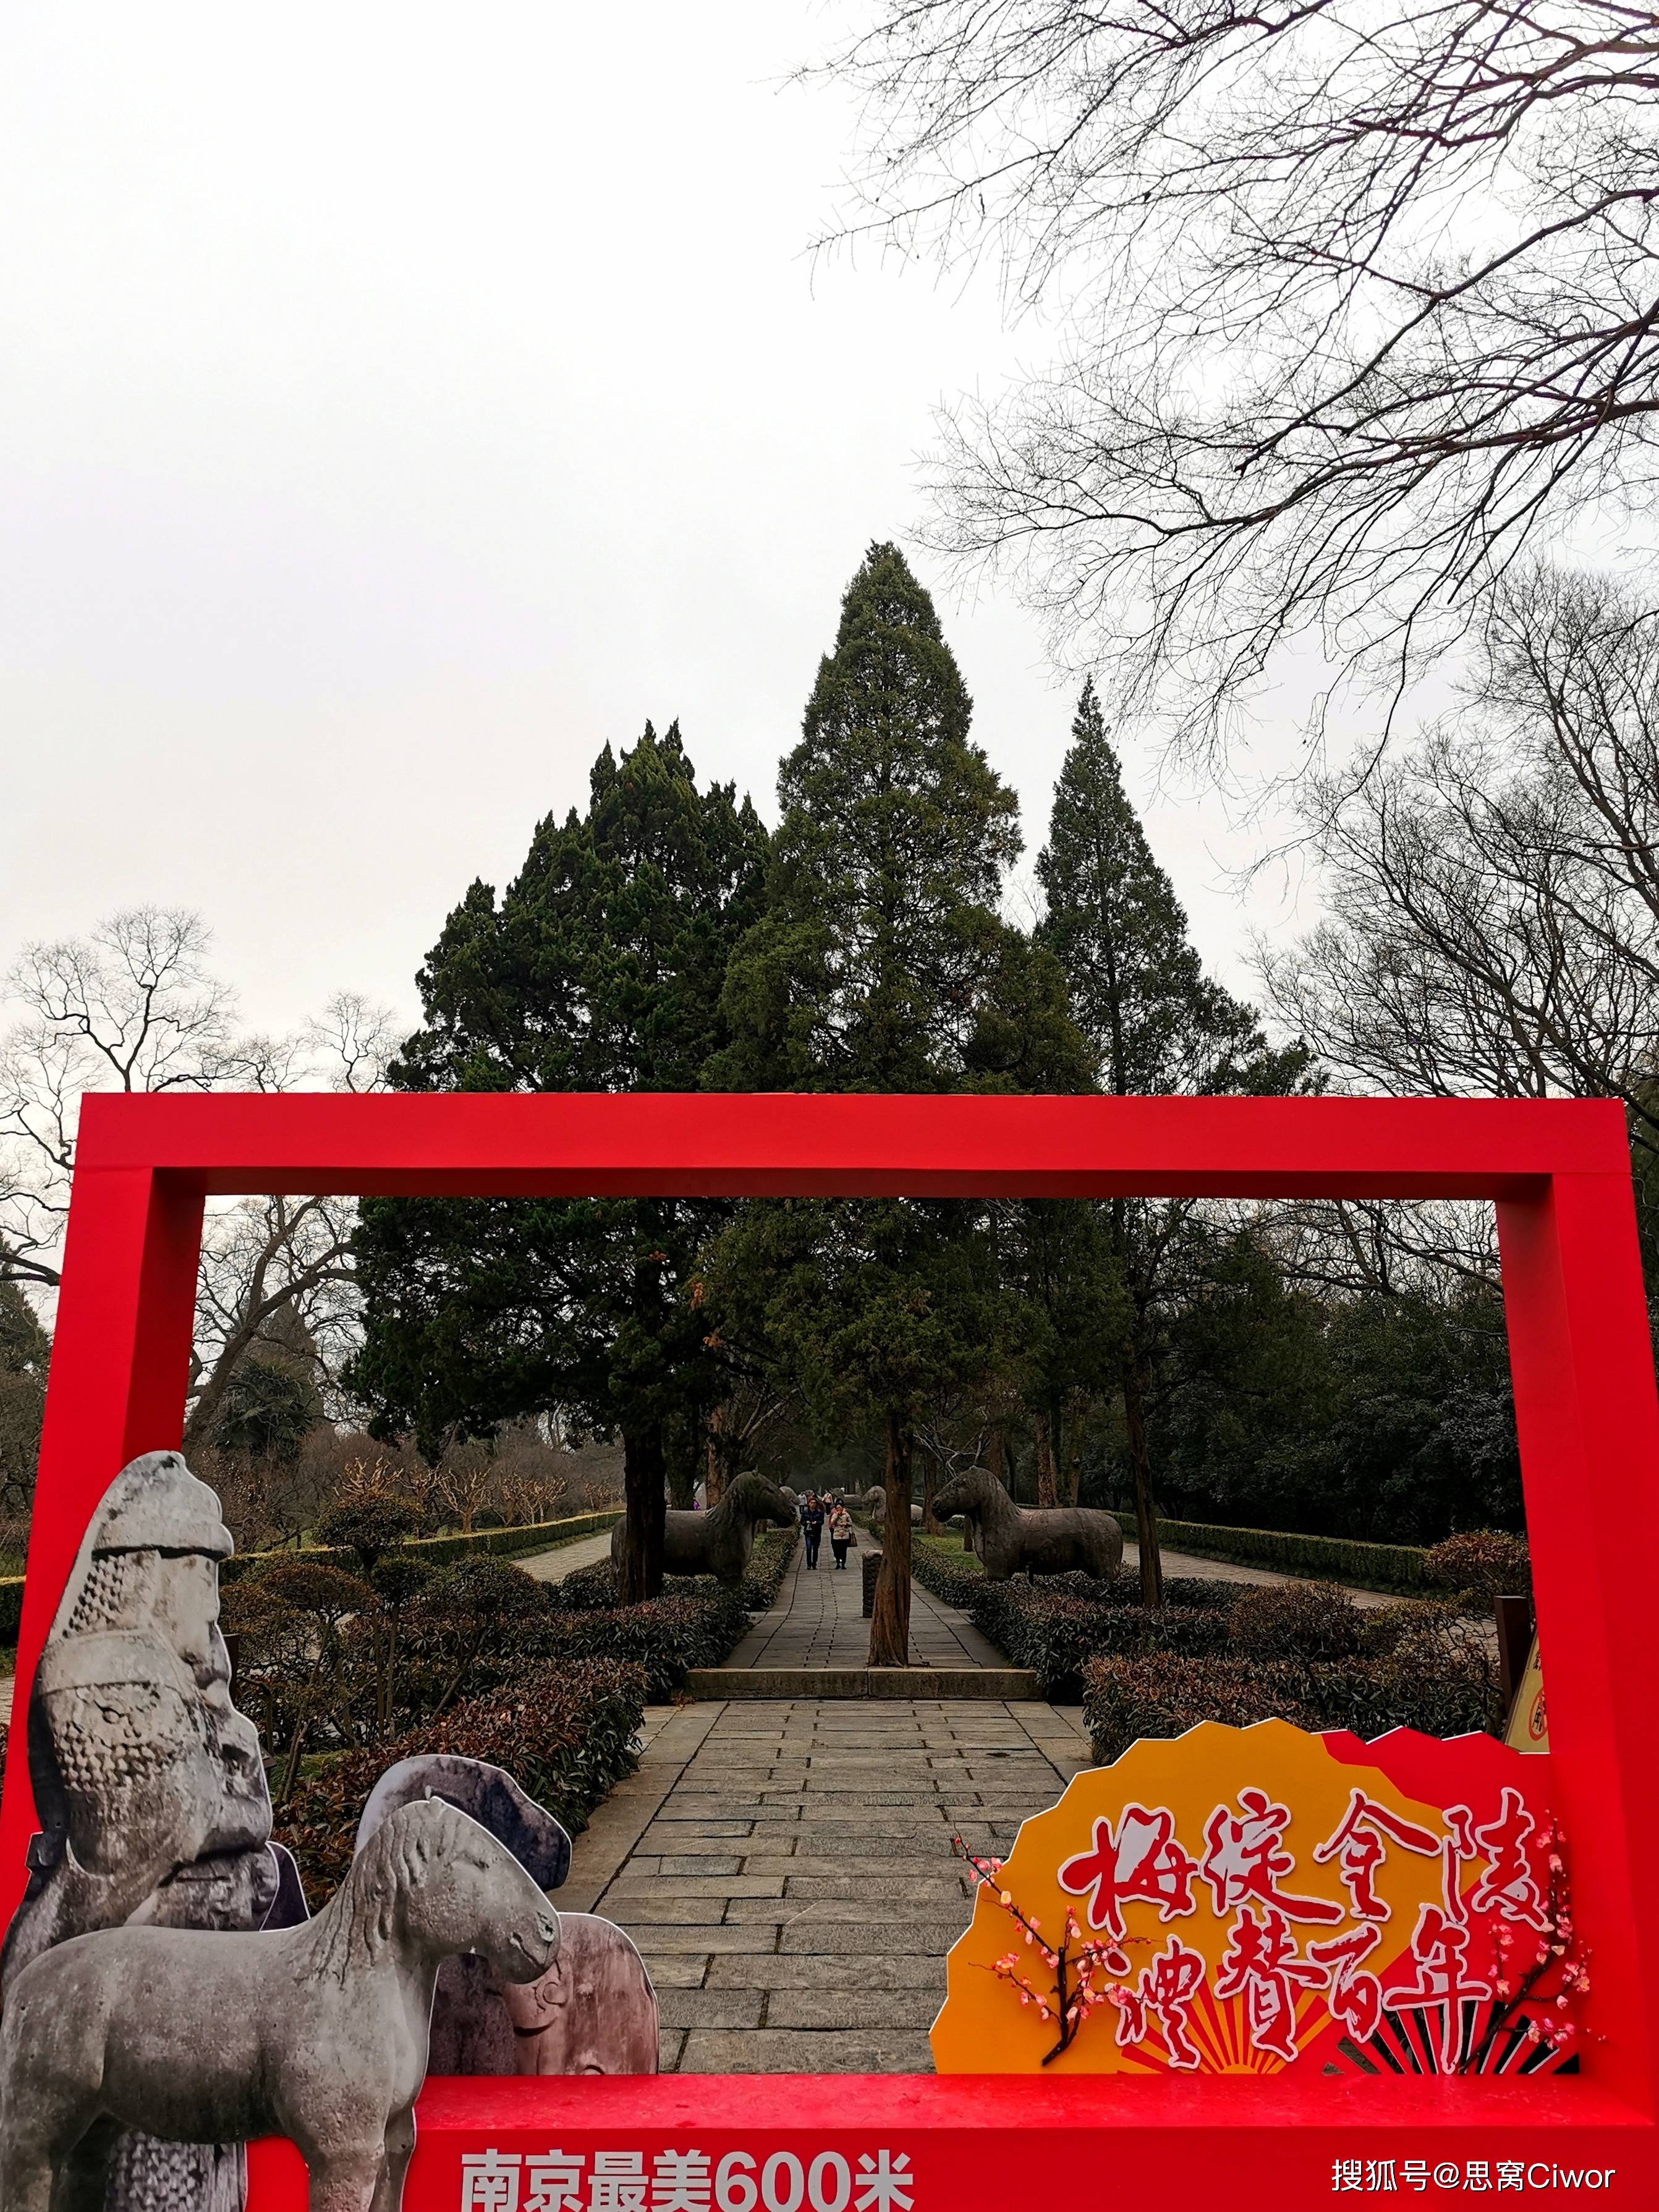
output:
M1015 560L1188 730L1292 641L1413 666L1655 480L1659 13L1624 0L878 0L860 206L1000 257L1057 365L964 405L933 540Z

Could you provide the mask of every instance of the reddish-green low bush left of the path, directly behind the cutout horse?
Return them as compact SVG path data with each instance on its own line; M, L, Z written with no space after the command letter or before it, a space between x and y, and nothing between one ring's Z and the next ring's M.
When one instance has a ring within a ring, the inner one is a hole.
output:
M453 1752L507 1767L529 1794L577 1834L604 1794L637 1765L646 1674L617 1659L549 1666L511 1688L469 1697L405 1736L341 1752L301 1781L276 1818L276 1838L299 1860L312 1902L352 1863L356 1823L387 1767L422 1752Z

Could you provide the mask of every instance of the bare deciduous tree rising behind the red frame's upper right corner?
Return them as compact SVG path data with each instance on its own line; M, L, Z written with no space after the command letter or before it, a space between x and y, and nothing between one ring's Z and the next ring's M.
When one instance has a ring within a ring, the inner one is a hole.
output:
M1316 790L1329 918L1261 971L1363 1088L1621 1097L1659 1157L1659 615L1504 586L1469 712Z

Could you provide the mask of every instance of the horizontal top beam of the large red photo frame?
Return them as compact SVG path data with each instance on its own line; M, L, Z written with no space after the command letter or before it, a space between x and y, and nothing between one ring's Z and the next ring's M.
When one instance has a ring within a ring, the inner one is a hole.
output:
M93 1095L82 1172L206 1194L1535 1197L1630 1172L1615 1099Z

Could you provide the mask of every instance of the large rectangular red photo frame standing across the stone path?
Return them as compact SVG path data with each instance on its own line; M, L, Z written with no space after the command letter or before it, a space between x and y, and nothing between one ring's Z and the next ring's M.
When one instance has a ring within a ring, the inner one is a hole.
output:
M1553 1798L1590 1953L1579 2073L431 2081L409 2212L460 2212L465 2154L549 2146L624 2154L611 2172L639 2152L646 2174L659 2150L703 2150L726 2177L710 2181L710 2212L945 2212L1073 2188L1245 2212L1418 2181L1429 2197L1659 2203L1659 1396L1617 1102L88 1097L18 1639L0 1918L33 1834L22 1719L42 1639L111 1478L179 1444L204 1201L261 1192L1498 1208ZM299 2205L290 2146L257 2146L252 2172L257 2212ZM613 2212L635 2205L624 2183L604 2197ZM641 2194L635 2212L653 2208Z

